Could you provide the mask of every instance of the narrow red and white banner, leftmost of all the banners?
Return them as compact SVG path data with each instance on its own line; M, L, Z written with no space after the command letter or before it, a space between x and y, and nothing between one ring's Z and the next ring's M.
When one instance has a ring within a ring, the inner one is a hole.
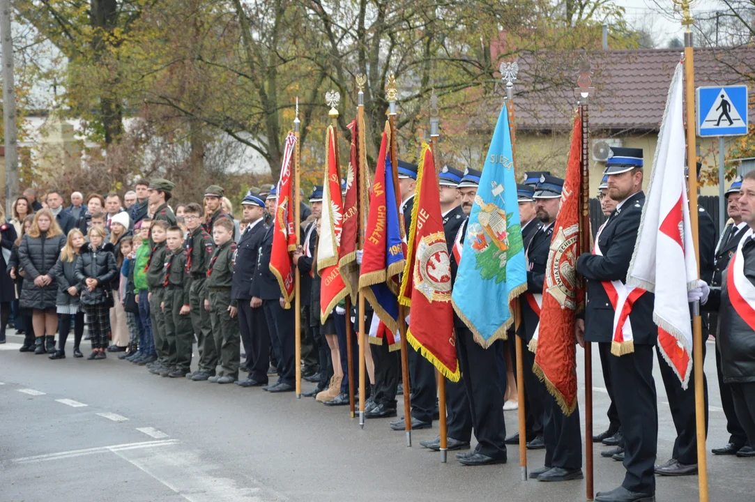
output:
M285 139L281 176L278 180L277 199L278 209L273 220L273 251L270 255L270 272L278 279L281 294L285 300L285 308L291 308L291 298L294 297L294 265L288 251L296 249L296 233L294 230L294 145L296 137L289 133Z

